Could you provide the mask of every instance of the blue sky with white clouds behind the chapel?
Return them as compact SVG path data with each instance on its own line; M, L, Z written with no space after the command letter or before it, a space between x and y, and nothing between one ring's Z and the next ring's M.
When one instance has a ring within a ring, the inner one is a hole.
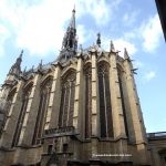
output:
M123 56L127 48L147 132L166 131L166 43L155 0L0 0L0 84L24 50L22 70L52 62L76 9L79 44L113 40Z

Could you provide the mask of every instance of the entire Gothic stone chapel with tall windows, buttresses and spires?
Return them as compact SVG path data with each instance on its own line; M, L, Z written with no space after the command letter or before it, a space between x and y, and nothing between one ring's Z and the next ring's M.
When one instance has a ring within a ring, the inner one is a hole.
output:
M110 48L98 34L77 49L73 10L56 61L21 72L21 52L0 91L0 166L152 165L135 70Z

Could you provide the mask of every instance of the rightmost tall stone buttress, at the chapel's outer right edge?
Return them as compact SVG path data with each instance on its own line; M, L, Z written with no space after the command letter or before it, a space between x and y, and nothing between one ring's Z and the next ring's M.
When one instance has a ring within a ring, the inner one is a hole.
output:
M128 95L128 107L131 113L131 124L129 126L132 131L129 131L131 141L136 144L137 152L139 154L139 158L142 158L142 163L146 164L147 162L147 149L146 149L146 139L144 137L145 133L143 132L143 124L141 118L141 110L138 106L138 98L136 92L136 85L133 76L133 65L129 59L124 60L124 68L126 73L126 87Z

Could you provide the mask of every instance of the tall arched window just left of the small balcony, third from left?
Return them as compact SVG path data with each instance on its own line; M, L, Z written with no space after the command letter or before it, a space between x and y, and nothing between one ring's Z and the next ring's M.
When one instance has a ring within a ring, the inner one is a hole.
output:
M48 112L48 106L50 101L52 80L53 80L52 77L49 77L41 85L40 104L39 104L39 110L37 115L32 145L37 145L41 143L41 137L44 129L46 112Z

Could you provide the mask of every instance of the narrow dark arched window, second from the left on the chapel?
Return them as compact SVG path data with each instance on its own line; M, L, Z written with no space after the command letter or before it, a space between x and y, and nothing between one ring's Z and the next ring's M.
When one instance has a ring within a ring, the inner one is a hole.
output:
M27 107L28 107L28 103L29 103L29 97L32 91L32 84L29 84L22 93L22 106L21 106L21 111L19 114L19 118L18 118L18 123L17 123L17 128L14 132L14 136L13 136L13 141L12 141L12 147L17 146L19 143L19 138L20 138L20 134L21 134L21 128L23 125L23 120L24 120L24 115L27 112Z

